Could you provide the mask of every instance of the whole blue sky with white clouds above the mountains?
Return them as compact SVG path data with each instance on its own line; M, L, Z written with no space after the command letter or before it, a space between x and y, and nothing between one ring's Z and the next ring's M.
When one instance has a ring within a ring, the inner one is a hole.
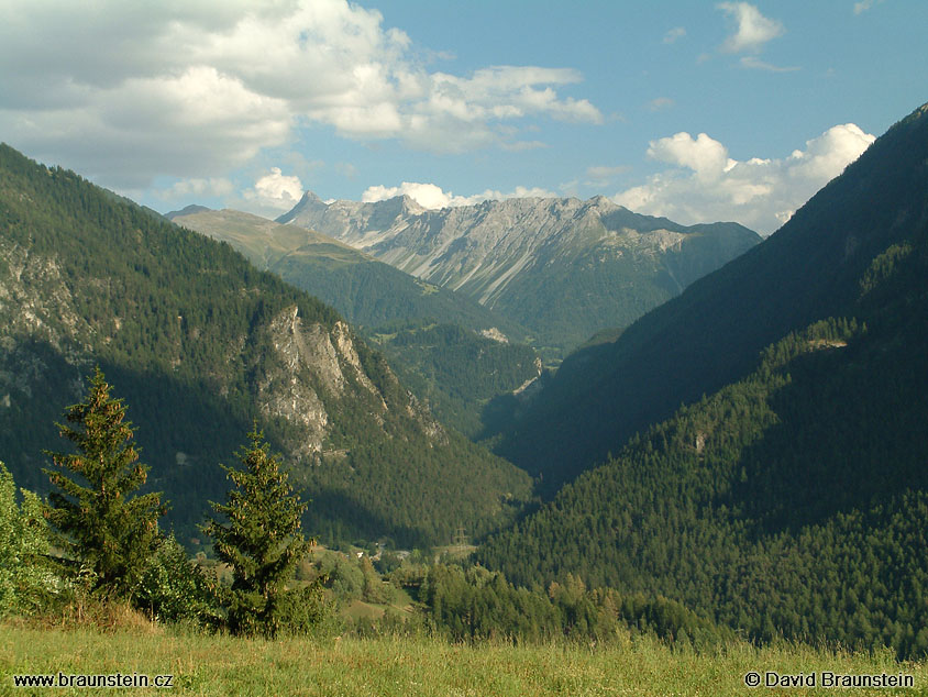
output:
M161 212L603 195L769 234L928 101L924 0L0 10L0 141Z

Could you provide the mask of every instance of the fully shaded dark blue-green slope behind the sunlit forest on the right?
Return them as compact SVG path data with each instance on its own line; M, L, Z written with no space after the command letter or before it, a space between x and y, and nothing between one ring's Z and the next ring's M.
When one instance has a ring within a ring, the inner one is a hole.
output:
M565 359L497 452L554 490L681 403L750 373L789 332L855 314L874 259L926 224L925 122L916 112L762 244Z

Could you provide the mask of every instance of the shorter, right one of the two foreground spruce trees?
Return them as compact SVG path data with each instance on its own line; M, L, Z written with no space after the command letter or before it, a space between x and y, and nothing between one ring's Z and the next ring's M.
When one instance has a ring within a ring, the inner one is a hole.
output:
M277 456L268 454L264 433L255 427L248 440L236 453L244 469L221 465L235 485L227 502L211 502L228 523L213 519L206 532L217 558L232 567L232 587L223 598L230 631L274 637L288 628L292 604L286 586L316 541L300 532L307 504L292 493Z

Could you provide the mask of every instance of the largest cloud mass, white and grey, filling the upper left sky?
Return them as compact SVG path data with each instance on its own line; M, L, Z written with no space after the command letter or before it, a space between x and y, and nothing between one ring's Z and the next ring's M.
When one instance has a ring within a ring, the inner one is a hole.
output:
M501 126L530 117L603 122L587 99L562 95L582 80L575 70L430 71L406 33L346 0L10 0L4 10L4 139L123 186L241 165L303 124L463 152L519 147L519 130Z

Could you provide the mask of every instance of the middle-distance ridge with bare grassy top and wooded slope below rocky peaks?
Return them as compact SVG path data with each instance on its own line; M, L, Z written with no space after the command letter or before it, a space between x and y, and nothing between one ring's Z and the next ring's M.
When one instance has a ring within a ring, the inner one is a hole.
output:
M486 402L539 375L534 352L518 343L526 330L515 322L332 237L232 210L188 207L168 217L332 305L442 423L469 436L483 429Z

